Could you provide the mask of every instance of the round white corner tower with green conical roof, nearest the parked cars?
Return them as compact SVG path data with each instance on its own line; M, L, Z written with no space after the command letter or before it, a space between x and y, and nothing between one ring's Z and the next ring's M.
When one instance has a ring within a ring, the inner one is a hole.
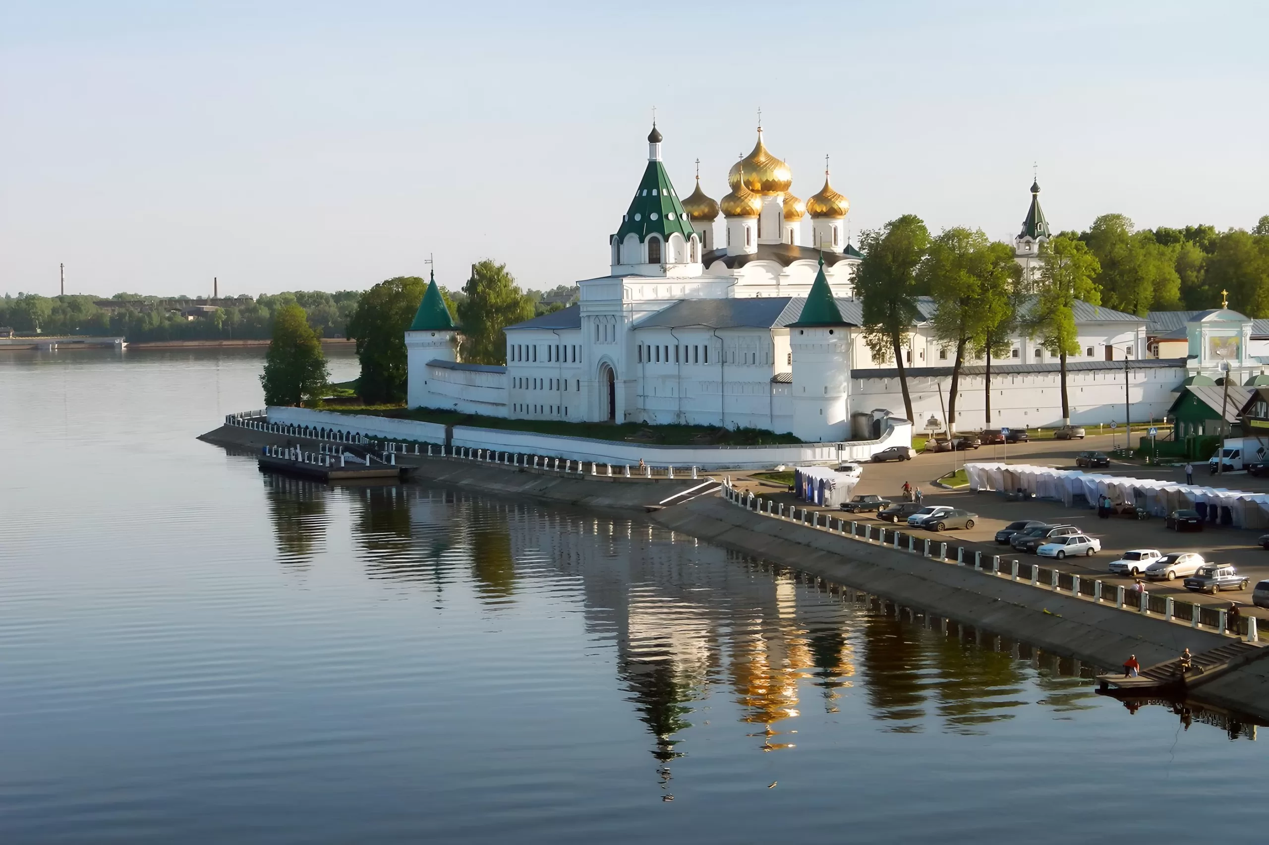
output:
M806 443L836 443L850 433L850 325L820 272L797 322L788 326L793 353L793 434Z

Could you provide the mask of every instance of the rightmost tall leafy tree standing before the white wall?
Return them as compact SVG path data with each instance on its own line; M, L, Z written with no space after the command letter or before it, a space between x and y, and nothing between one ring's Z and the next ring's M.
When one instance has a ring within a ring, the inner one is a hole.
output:
M1093 282L1101 268L1088 245L1058 235L1041 247L1039 284L1027 315L1028 330L1044 349L1057 355L1062 381L1062 424L1071 424L1071 405L1066 396L1066 357L1079 350L1072 307L1076 299L1101 303Z

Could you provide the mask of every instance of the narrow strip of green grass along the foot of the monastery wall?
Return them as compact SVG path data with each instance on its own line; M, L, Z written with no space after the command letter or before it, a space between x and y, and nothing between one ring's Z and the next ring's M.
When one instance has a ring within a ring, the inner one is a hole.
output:
M792 434L763 429L723 429L707 425L645 425L642 422L563 422L560 420L506 420L500 416L459 414L437 409L405 409L393 405L343 405L326 410L339 414L371 414L398 420L419 420L440 425L470 425L482 429L534 431L594 440L619 440L655 445L778 445L801 443Z

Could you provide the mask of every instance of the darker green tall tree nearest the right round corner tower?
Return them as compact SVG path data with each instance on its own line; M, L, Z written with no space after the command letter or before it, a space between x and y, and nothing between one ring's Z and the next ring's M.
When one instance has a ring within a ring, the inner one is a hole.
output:
M864 232L859 245L864 258L855 275L855 289L863 298L864 343L874 360L893 357L904 392L904 411L912 420L904 346L912 324L921 316L916 306L916 297L923 293L916 268L929 249L930 232L920 217L904 214L884 228Z

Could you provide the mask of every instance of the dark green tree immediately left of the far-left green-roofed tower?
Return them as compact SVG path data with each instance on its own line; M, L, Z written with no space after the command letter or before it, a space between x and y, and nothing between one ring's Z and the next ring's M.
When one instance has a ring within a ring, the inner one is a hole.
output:
M368 405L405 401L409 374L405 332L426 289L425 279L398 275L379 282L358 301L348 321L348 336L357 340L357 358L362 362L357 392Z

